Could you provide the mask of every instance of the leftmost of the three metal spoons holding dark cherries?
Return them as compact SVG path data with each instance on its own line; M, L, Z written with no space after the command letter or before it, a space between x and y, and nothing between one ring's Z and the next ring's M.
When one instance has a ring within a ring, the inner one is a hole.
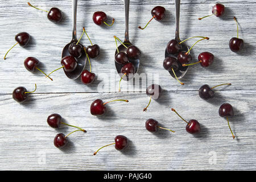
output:
M73 35L72 35L72 40L70 43L68 43L62 51L62 55L61 58L65 57L65 56L70 56L70 53L68 52L68 47L70 44L77 42L77 37L76 37L76 15L77 15L77 0L72 0L72 15L73 15ZM80 43L79 43L80 44ZM82 45L82 44L81 44ZM83 46L84 47L84 46ZM83 51L81 57L76 58L77 61L77 67L74 71L72 72L66 72L64 69L65 74L67 75L68 78L71 78L72 80L75 80L76 78L78 78L82 71L85 68L85 64L86 64L86 54Z

